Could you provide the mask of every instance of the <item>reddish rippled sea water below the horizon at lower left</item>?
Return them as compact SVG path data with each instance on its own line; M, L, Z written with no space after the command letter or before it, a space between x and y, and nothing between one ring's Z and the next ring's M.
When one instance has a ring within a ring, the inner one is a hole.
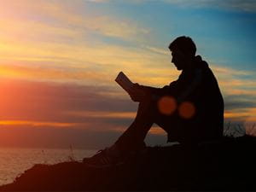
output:
M12 183L35 164L56 164L83 160L95 150L56 148L0 148L0 185Z

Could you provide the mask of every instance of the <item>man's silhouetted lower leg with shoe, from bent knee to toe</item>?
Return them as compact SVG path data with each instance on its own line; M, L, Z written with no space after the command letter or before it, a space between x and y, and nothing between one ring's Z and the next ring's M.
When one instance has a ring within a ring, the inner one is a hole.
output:
M84 159L89 166L104 167L118 165L132 151L137 151L145 146L144 138L154 123L155 104L149 99L139 103L137 116L129 128L109 148L100 150L99 153Z

